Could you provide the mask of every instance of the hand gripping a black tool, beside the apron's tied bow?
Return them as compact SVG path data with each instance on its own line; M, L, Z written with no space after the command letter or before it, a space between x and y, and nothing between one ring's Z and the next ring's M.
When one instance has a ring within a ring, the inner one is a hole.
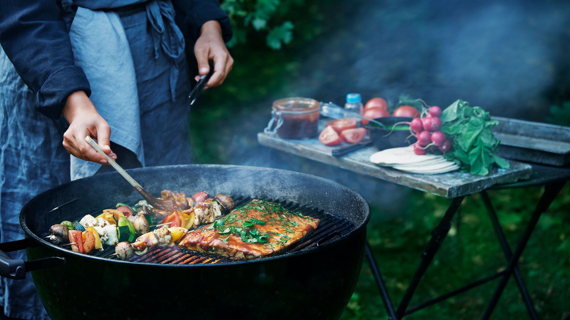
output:
M234 59L227 51L226 44L223 43L222 27L219 22L211 20L202 25L200 38L194 44L194 56L198 61L200 75L207 75L210 72L208 60L214 60L214 74L206 83L205 88L221 85L230 73ZM196 76L194 79L198 81L200 76Z

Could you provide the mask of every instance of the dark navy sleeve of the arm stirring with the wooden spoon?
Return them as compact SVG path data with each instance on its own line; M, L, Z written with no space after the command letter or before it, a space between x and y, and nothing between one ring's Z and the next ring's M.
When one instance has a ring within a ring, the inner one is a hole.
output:
M0 1L0 45L46 116L58 118L73 92L91 95L55 0Z

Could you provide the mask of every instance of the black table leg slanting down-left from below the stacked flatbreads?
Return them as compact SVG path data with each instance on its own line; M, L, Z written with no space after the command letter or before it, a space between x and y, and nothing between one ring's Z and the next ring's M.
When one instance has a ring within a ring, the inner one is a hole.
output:
M453 219L455 212L457 212L459 206L461 206L463 198L465 198L465 196L458 196L457 198L453 198L451 201L451 206L447 208L445 215L437 227L431 231L431 239L429 240L424 253L422 253L420 266L418 266L418 269L412 277L412 281L410 282L408 289L406 289L406 292L404 293L404 297L402 297L402 300L400 301L400 305L398 305L398 310L396 311L397 319L401 319L404 317L404 315L406 315L406 308L408 307L410 300L412 300L412 296L414 295L418 284L420 284L420 280L422 276L424 276L427 267L430 265L431 260L433 260L433 257L435 256L435 253L438 251L439 247L441 247L443 240L447 236L447 232L449 232L449 229L451 228L451 219Z

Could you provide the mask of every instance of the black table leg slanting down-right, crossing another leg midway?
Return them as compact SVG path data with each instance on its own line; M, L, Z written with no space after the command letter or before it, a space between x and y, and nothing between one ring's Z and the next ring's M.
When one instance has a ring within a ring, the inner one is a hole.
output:
M504 256L507 258L508 262L512 257L511 247L509 247L507 243L507 238L504 236L503 229L500 227L499 220L495 213L495 209L491 204L491 200L489 199L487 192L481 191L481 196L483 198L483 203L485 204L485 207L487 207L487 213L491 218L491 222L495 229L495 233L499 239L501 248L503 249ZM531 319L538 320L538 314L536 313L534 305L532 304L531 296L530 294L528 294L527 287L526 285L524 285L523 278L522 276L520 276L518 266L515 265L515 268L512 269L512 272L515 276L516 284L519 286L520 295L523 297L524 305L527 307L528 314L531 316Z

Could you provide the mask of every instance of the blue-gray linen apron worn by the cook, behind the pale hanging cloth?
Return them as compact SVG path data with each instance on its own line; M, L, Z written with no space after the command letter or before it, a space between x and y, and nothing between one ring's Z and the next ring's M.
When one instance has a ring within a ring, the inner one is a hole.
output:
M152 18L145 10L120 14L136 72L144 163L146 166L186 164L191 162L186 60L184 54L173 59L161 47L155 50L157 30L150 21ZM173 69L178 72L174 83ZM119 94L121 93L117 92ZM18 221L23 205L43 190L68 182L73 170L70 155L62 146L67 121L63 117L54 121L43 116L34 109L34 101L34 94L0 49L2 242L23 238ZM119 150L124 150L124 154L118 154L119 159L122 156L137 161L134 152L128 154L131 151L113 144L113 133L111 141L113 151L118 153ZM103 169L107 167L104 166ZM12 252L10 255L14 259L25 259L23 251ZM0 278L0 293L0 305L7 316L48 319L30 274L27 274L26 280Z

